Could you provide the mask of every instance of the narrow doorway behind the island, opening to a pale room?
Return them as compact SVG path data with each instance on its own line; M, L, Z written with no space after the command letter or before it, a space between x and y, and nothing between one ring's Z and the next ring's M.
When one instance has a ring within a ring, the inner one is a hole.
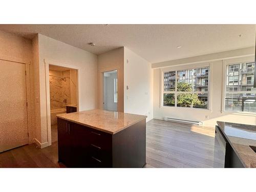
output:
M118 111L117 70L104 72L104 110Z

